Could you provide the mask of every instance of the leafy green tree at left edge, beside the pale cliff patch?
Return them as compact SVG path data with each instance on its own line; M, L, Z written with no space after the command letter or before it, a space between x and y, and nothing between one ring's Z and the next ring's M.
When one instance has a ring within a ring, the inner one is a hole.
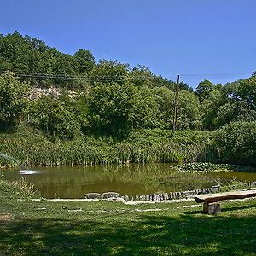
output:
M1 128L17 124L28 106L30 87L15 78L14 73L0 76L0 123Z

